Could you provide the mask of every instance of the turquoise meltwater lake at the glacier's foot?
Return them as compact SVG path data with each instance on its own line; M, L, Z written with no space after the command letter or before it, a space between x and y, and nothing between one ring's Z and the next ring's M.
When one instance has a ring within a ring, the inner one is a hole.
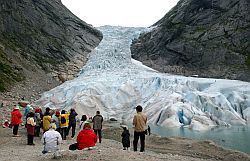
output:
M160 136L180 136L197 140L212 140L227 149L234 149L250 154L250 127L219 127L209 131L193 131L188 128L164 128L150 125L151 132Z

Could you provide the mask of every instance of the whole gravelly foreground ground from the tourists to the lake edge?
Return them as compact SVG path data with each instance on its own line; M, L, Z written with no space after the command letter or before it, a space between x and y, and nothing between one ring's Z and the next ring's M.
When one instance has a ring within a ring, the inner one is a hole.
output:
M146 137L146 151L133 152L132 148L123 150L121 128L112 123L104 125L104 140L97 143L92 150L69 151L68 146L74 139L64 140L60 145L60 156L56 159L53 154L42 154L43 145L40 137L34 140L35 145L26 145L25 128L21 127L21 137L11 137L12 129L0 128L1 161L27 160L93 160L93 161L250 161L250 156L238 151L225 150L211 141L195 141L186 138L163 138L156 135ZM130 129L132 134L132 129ZM132 142L131 135L131 142Z

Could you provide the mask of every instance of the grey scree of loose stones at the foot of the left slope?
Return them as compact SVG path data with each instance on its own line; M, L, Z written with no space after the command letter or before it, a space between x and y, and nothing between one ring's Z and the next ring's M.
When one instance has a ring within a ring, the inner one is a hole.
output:
M0 92L0 122L10 118L10 112L12 111L13 106L22 98L29 102L33 102L40 98L43 92L60 84L42 70L24 72L26 81L16 83L6 92Z

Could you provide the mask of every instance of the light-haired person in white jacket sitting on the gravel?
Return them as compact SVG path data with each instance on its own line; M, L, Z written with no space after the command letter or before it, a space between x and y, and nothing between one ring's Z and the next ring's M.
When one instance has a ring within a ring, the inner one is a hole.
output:
M62 137L61 134L56 131L55 123L50 124L50 129L43 134L41 141L44 145L43 154L48 152L54 152L54 154L56 154L59 150L59 144L62 143Z

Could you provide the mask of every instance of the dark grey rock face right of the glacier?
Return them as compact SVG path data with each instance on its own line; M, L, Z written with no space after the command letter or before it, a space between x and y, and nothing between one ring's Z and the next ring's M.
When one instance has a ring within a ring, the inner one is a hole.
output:
M131 46L161 72L250 81L250 1L180 0Z

